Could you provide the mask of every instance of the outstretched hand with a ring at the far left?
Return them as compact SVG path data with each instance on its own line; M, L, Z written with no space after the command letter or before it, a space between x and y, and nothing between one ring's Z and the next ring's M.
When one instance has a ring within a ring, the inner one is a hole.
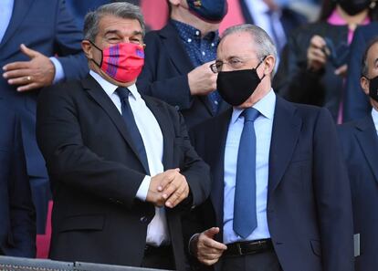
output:
M30 60L12 62L3 67L5 70L3 77L8 80L8 84L19 86L17 91L39 89L51 85L55 76L55 67L51 60L23 44L20 49L27 57L30 57Z

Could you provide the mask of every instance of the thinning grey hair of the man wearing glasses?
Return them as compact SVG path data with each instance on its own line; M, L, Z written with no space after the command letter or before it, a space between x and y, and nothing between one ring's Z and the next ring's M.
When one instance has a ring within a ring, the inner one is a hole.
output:
M260 61L268 55L277 59L277 49L274 46L272 39L268 36L267 32L258 26L245 24L228 27L223 33L222 39L239 32L247 32L253 37L253 41L257 46L257 57Z

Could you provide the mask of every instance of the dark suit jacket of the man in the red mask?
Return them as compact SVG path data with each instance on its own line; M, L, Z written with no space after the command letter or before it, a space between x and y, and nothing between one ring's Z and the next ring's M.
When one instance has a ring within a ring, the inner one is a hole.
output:
M163 132L164 170L179 167L189 183L193 202L181 207L204 202L208 166L190 145L183 118L161 100L142 98ZM54 199L51 258L140 266L154 215L151 203L135 198L146 173L120 112L94 78L41 93L37 141ZM180 211L166 215L176 268L184 270Z

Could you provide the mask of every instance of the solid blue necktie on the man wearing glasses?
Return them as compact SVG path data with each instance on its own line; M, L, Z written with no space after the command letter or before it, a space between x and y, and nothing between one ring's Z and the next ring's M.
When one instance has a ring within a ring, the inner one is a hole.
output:
M256 214L256 134L257 109L245 109L236 165L234 231L244 239L257 227Z

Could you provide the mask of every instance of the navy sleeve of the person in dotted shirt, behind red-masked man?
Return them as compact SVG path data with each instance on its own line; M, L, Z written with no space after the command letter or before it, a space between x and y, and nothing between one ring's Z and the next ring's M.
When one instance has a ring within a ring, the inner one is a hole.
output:
M142 93L162 99L179 109L189 109L193 99L190 94L187 74L168 71L173 68L160 37L156 33L146 36L145 63L138 78ZM173 46L181 46L181 44ZM168 68L167 68L168 67Z

